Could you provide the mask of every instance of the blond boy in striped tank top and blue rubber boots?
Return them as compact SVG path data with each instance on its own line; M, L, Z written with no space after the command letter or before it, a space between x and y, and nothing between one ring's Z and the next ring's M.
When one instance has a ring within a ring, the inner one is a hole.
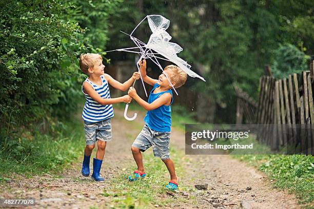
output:
M115 89L126 91L133 81L140 78L140 73L133 73L132 77L120 83L105 74L105 66L100 54L81 54L80 68L88 78L83 82L82 92L85 95L86 102L82 117L84 119L84 131L86 137L86 147L84 150L84 160L82 165L82 175L89 176L89 161L92 151L97 141L96 158L93 159L92 179L103 181L100 170L105 155L107 141L111 141L111 122L113 117L112 104L118 102L128 103L132 100L129 95L111 98L109 86Z

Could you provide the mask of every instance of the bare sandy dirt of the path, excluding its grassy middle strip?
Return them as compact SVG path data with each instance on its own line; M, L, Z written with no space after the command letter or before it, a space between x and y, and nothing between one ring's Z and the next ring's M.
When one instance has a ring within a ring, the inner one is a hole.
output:
M107 144L102 168L102 175L106 175L105 181L94 182L83 177L79 159L69 166L61 177L46 175L24 179L20 176L11 180L0 189L0 198L34 197L36 205L29 208L112 206L111 197L102 196L102 192L110 187L111 178L125 173L125 168L128 168L130 163L134 164L130 152L132 140L126 136L134 138L140 132L138 127L142 124L143 115L139 115L133 122L127 122L122 118L122 111L115 110L115 118L112 120L113 141ZM184 152L183 132L172 130L171 146ZM180 176L180 185L208 184L208 190L177 193L176 195L186 197L187 203L175 203L165 207L299 208L293 195L271 189L269 180L245 163L226 155L189 155L186 158L188 160L182 165L186 168L186 173Z

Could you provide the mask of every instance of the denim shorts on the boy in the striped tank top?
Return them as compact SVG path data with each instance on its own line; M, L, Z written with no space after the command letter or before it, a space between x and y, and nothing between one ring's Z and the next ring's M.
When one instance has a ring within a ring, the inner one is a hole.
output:
M95 144L97 140L111 141L111 118L99 122L84 120L84 131L86 145Z

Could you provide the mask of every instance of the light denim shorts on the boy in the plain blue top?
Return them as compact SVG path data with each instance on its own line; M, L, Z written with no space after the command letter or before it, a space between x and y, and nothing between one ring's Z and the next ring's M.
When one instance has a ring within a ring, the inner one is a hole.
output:
M165 160L170 158L169 144L170 132L154 131L145 124L141 133L134 140L132 147L139 148L141 152L152 147L154 156Z

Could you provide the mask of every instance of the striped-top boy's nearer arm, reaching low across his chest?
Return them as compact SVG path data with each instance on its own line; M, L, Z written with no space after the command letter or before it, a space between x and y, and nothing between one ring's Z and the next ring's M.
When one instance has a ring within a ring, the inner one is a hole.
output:
M119 102L129 103L132 100L132 98L129 95L124 95L122 97L117 97L117 98L104 99L87 82L83 83L83 88L84 88L84 92L88 94L91 98L93 98L100 105L111 105L111 104L119 103Z

